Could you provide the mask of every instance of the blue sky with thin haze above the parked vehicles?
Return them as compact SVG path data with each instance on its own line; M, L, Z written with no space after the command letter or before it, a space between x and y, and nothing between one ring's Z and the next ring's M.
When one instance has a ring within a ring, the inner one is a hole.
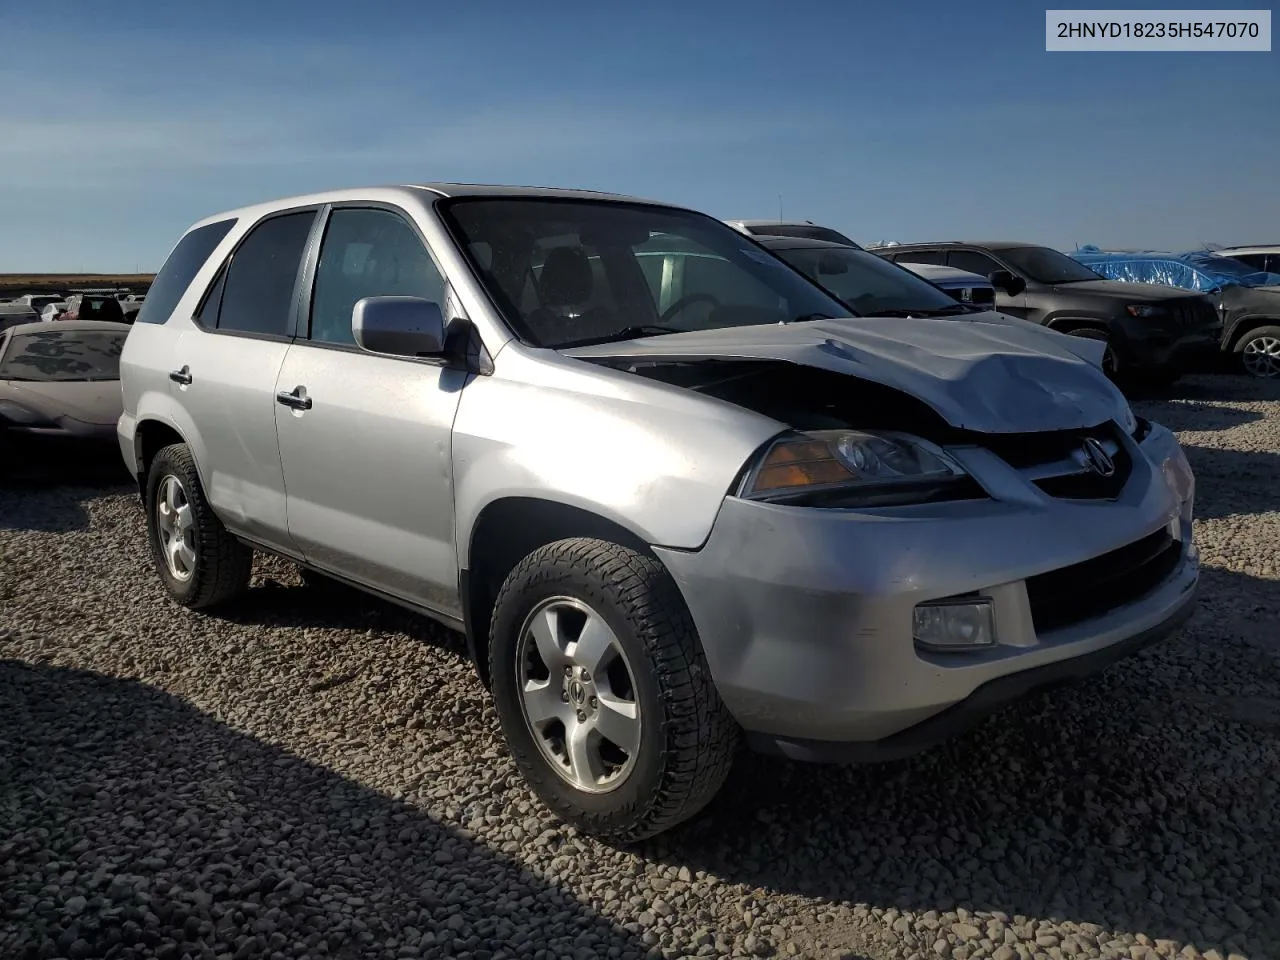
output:
M0 0L0 273L154 270L219 210L433 179L724 218L781 195L863 241L1280 242L1280 52L1048 54L1025 1Z

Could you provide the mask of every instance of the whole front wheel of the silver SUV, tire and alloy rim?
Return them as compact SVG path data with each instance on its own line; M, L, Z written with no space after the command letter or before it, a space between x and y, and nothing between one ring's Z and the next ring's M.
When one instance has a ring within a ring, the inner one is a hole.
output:
M535 550L498 594L489 657L516 765L584 832L654 836L724 782L737 727L653 557L591 539Z

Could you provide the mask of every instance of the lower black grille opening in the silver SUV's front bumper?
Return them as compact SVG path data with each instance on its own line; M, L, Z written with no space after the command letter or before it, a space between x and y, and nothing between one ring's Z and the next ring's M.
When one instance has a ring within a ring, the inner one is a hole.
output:
M1133 603L1178 568L1183 545L1167 527L1101 557L1028 577L1027 599L1037 634L1069 627Z

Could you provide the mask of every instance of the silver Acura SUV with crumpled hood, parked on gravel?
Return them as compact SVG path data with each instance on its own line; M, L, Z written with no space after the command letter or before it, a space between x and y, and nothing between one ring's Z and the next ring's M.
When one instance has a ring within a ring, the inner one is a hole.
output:
M119 438L174 600L262 549L466 631L534 790L635 840L744 735L900 756L1189 614L1192 474L1096 347L850 317L678 207L356 189L186 233Z

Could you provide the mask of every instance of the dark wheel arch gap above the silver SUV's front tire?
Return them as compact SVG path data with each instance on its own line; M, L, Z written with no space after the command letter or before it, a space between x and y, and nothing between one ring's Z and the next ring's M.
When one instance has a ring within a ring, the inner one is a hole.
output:
M636 531L559 500L503 497L485 504L477 515L458 586L467 652L486 687L490 681L489 623L499 588L516 564L539 547L572 538L607 540L657 559L650 544Z

